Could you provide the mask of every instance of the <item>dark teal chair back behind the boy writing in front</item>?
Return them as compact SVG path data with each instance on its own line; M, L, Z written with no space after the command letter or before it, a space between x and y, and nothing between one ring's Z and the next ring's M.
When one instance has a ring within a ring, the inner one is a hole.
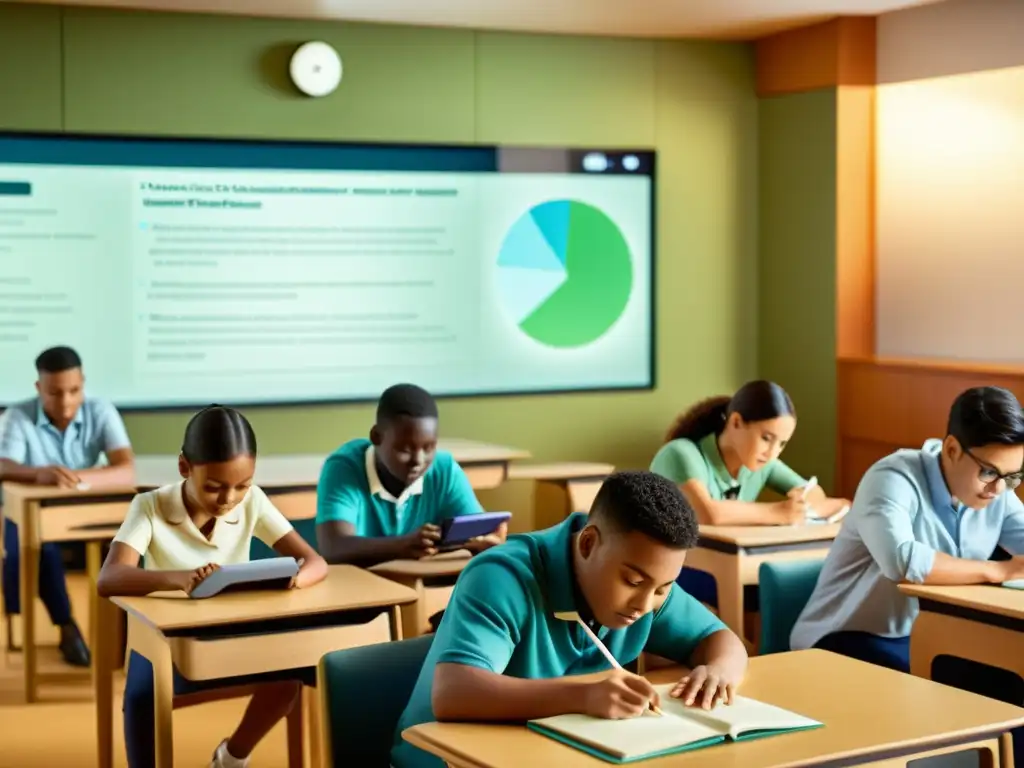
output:
M430 650L422 635L328 653L317 671L326 768L387 768L398 719Z

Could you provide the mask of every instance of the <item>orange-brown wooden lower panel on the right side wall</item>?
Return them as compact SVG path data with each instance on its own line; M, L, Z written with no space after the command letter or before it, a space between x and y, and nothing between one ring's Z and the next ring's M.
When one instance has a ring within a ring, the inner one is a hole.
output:
M1024 400L1024 368L962 361L840 358L837 371L839 493L852 498L864 472L901 447L943 437L949 407L970 387L1006 387Z

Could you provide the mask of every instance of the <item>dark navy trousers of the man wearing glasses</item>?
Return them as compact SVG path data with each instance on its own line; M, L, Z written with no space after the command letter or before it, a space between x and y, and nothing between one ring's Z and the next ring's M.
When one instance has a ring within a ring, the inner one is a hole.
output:
M879 637L866 632L836 632L821 638L815 647L899 672L910 671L908 637ZM1024 680L1013 672L996 667L955 656L938 656L932 665L932 679L988 698L1018 707L1024 706ZM1013 736L1014 765L1024 766L1024 727L1016 728Z

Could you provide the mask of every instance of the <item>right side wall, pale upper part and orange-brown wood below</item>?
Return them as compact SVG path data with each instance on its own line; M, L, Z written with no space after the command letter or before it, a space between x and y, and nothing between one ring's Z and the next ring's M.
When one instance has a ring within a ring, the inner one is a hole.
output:
M878 20L876 338L839 361L841 484L944 433L964 389L1024 398L1024 4Z

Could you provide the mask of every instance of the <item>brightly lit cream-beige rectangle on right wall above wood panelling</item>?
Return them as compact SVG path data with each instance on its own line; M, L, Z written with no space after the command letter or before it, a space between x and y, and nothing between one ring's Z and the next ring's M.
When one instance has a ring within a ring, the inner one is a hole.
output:
M877 103L878 353L1024 362L1024 67Z

